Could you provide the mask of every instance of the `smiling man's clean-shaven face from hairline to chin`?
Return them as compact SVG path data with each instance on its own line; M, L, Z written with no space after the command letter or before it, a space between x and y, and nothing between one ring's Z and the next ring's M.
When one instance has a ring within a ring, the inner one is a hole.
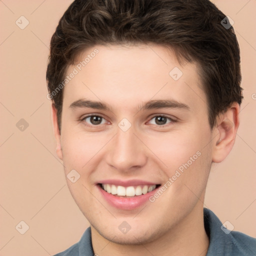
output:
M202 209L212 161L196 64L180 65L160 45L95 45L67 74L73 68L58 156L93 230L136 244L180 228Z

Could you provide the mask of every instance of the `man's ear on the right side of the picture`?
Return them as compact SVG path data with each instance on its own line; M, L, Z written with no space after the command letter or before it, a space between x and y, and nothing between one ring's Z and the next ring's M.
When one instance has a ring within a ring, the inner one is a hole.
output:
M239 126L239 104L233 103L224 113L217 117L215 127L217 136L213 141L212 161L221 162L231 151Z

